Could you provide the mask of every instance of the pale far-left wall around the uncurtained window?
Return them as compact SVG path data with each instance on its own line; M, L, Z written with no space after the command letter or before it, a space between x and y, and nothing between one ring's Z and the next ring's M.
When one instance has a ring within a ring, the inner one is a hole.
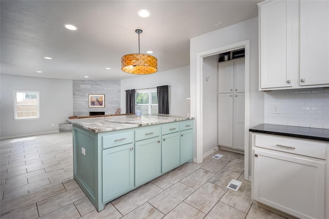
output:
M58 132L58 125L72 115L72 81L6 74L0 77L2 139ZM40 91L39 119L14 121L13 90Z

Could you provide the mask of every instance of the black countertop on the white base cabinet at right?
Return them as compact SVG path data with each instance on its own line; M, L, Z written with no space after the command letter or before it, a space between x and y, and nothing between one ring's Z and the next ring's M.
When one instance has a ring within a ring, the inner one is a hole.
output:
M249 131L329 142L329 129L260 124L250 128Z

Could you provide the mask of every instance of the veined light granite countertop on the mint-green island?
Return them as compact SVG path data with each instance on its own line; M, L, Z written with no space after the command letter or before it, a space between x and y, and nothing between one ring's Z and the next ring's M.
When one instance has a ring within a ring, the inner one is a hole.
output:
M75 118L66 121L89 131L99 133L192 119L192 117L182 117L177 115L150 114L141 117L136 117L135 115L116 115L93 118Z

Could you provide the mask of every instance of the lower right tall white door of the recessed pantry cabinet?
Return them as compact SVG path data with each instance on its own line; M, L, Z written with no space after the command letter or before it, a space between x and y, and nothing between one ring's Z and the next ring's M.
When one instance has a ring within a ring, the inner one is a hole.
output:
M233 97L233 148L245 149L245 93Z

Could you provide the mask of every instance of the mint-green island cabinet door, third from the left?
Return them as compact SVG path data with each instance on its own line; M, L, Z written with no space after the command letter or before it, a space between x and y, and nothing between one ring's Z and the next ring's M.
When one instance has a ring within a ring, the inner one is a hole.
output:
M179 166L179 132L162 135L162 173Z

